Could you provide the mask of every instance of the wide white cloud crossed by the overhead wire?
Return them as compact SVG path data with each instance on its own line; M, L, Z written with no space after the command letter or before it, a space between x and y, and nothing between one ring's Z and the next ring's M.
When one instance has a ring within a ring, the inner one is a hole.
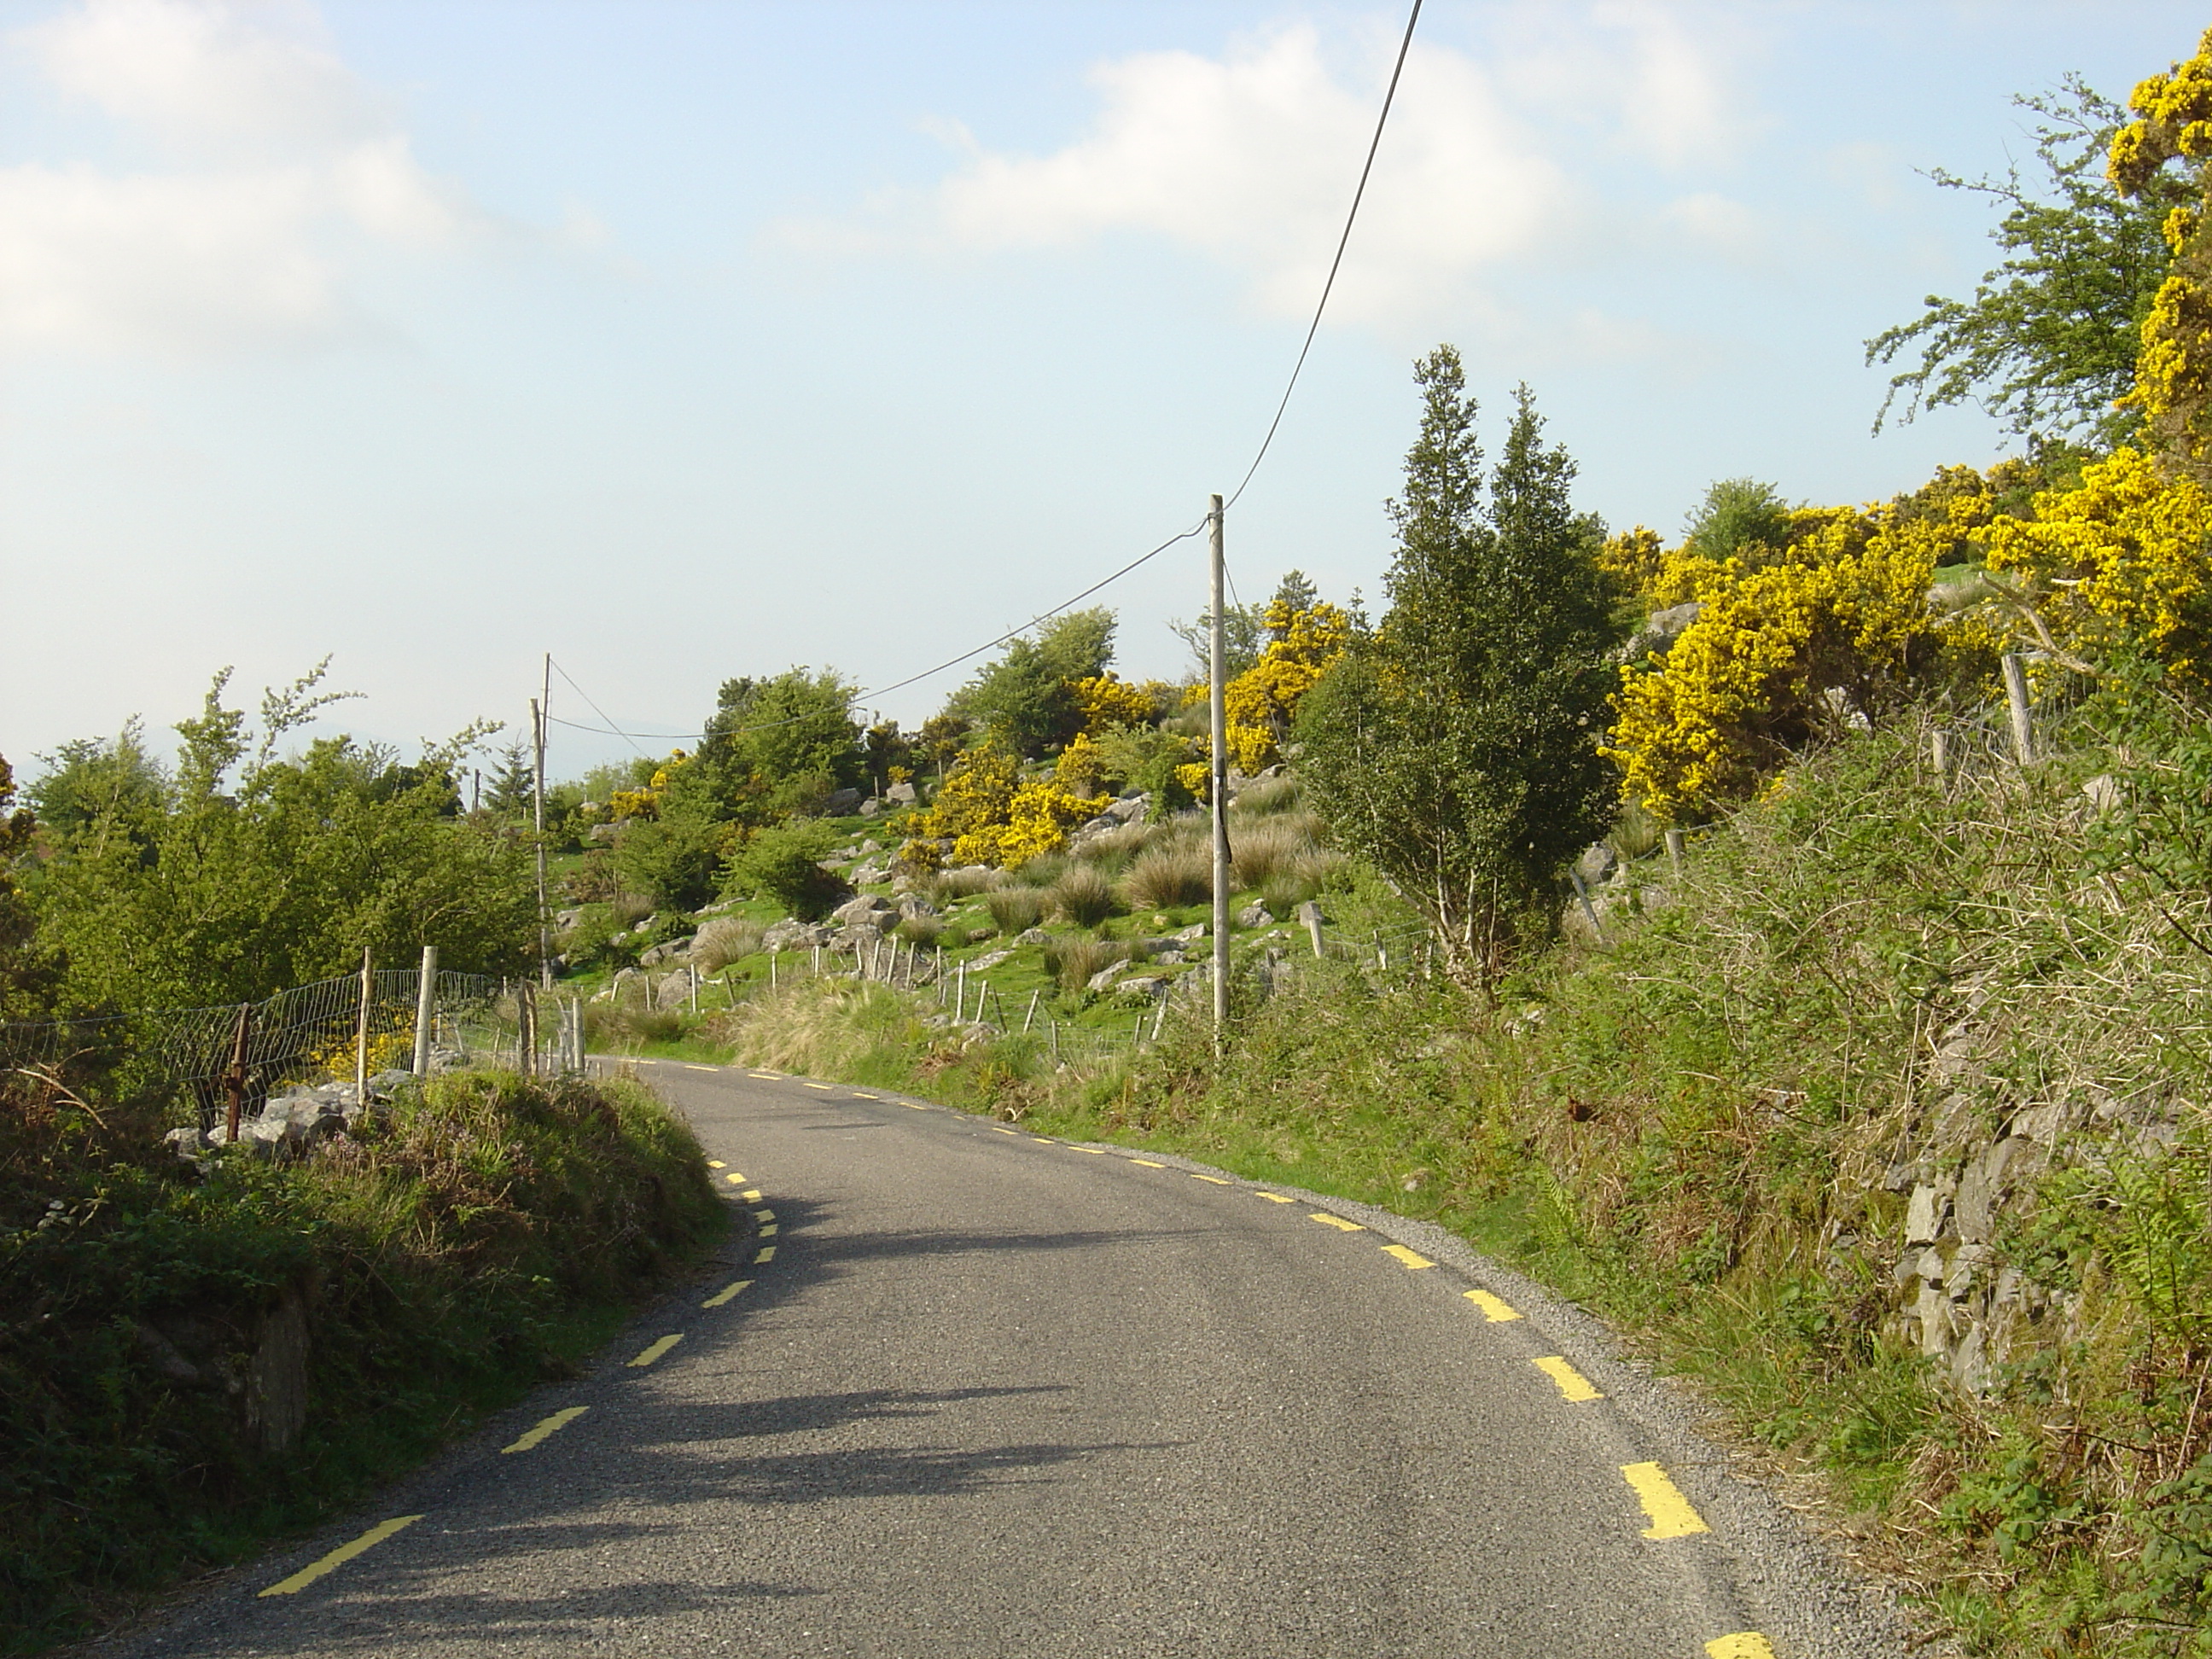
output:
M1509 325L1500 272L1584 265L1655 234L1721 230L1697 210L1624 210L1608 170L1679 170L1725 157L1739 128L1725 53L1663 7L1500 13L1493 44L1416 42L1332 314L1396 325L1449 305ZM1137 53L1091 71L1088 131L1046 155L978 144L933 122L960 161L936 190L887 195L845 221L779 226L794 248L1068 248L1117 232L1161 237L1248 276L1259 305L1314 305L1396 33L1369 35L1360 73L1329 62L1305 24L1221 58ZM1728 239L1743 226L1728 223ZM1520 327L1520 323L1511 323Z

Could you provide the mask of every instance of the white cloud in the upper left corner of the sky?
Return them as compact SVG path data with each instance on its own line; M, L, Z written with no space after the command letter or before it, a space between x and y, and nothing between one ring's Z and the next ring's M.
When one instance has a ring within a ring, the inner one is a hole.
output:
M80 0L11 38L159 164L0 166L0 345L206 352L363 325L349 263L480 223L301 7Z

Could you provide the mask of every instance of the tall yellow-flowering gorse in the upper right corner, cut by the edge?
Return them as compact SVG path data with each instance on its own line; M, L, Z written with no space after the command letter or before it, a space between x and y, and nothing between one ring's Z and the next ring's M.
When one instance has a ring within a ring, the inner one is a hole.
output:
M2212 484L2212 29L2194 58L2137 86L2128 108L2137 119L2112 135L2108 175L2135 212L2157 219L2172 263L2141 319L2124 403L2170 467ZM2170 161L2188 161L2185 177Z

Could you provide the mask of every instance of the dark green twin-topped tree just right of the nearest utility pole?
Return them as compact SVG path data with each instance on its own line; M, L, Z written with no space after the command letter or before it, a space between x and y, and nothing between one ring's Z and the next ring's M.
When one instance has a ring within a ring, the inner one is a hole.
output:
M1444 967L1493 987L1546 931L1559 876L1610 818L1597 752L1613 586L1575 462L1526 387L1484 500L1460 354L1416 365L1420 436L1391 502L1389 613L1305 695L1307 799L1429 920Z

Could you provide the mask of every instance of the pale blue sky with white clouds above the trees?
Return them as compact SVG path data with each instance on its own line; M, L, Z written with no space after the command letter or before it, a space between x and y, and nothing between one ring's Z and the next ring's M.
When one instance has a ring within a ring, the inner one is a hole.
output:
M1438 341L1493 411L1533 385L1615 526L2004 453L1973 411L1869 436L1860 341L1991 263L1916 170L2024 157L2013 93L2126 95L2203 22L1431 0L1239 591L1378 593ZM1022 624L1243 473L1400 27L0 0L0 754L325 653L334 723L403 745L520 721L544 650L684 732L730 675L885 686ZM1104 595L1126 672L1203 591L1188 542ZM624 752L557 730L553 770Z

